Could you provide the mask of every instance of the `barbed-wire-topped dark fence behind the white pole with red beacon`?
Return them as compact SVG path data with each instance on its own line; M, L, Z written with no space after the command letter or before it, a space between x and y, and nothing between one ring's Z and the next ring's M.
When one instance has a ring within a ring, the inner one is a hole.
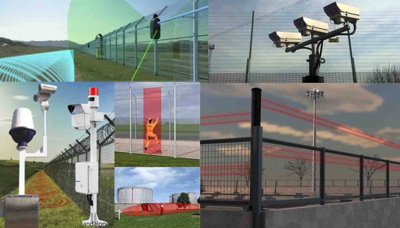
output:
M97 130L99 192L98 217L114 224L114 119L104 115L106 124ZM75 191L75 163L90 160L90 134L86 134L61 151L45 167L52 180L89 216L90 206L85 194Z

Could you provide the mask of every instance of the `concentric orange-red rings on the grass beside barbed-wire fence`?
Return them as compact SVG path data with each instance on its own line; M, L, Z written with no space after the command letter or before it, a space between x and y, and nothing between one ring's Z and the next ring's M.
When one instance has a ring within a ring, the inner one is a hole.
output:
M33 181L25 186L25 194L39 195L40 208L66 206L70 201L60 196L60 190L53 186L44 171L39 171Z

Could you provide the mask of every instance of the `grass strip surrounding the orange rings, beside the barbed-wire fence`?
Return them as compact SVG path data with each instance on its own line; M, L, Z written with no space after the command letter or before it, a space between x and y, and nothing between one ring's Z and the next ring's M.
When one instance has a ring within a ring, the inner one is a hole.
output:
M41 171L43 172L43 171ZM43 172L44 173L44 172ZM26 180L25 184L28 186L35 181L39 173L36 173L32 177ZM46 175L46 174L44 174ZM52 188L60 190L59 196L67 198L70 202L66 206L56 208L40 208L40 228L59 228L59 227L71 227L81 228L82 220L88 219L84 215L84 212L78 208L78 206L71 201L64 192L46 175L47 181L50 182ZM10 194L18 194L18 188L10 192ZM0 200L4 200L4 196ZM4 228L4 218L0 218L0 228Z

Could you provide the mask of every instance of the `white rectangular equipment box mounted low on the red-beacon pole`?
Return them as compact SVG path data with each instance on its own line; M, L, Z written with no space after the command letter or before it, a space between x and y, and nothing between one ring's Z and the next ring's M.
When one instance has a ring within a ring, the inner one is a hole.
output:
M82 194L98 193L98 163L75 163L75 191Z

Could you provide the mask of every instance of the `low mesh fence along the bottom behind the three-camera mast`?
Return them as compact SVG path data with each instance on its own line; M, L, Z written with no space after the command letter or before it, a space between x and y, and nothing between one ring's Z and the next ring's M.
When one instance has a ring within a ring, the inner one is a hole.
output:
M296 83L302 82L302 77L307 76L308 73L250 73L248 82L280 82L280 83ZM376 82L374 72L356 72L357 82L370 83ZM325 82L336 83L352 83L352 72L321 72ZM210 83L229 83L229 82L243 82L246 79L246 73L210 73L208 81L202 82Z

